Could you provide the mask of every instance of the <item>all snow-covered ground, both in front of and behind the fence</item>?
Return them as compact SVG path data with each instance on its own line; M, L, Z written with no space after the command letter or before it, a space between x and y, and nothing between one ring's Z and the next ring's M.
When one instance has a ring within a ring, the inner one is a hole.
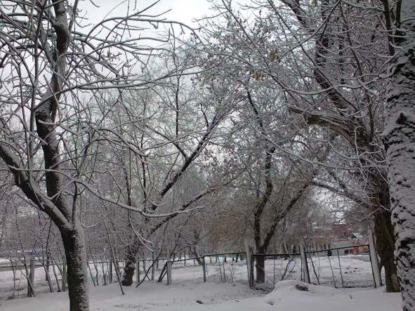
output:
M350 259L350 258L349 258ZM347 260L343 260L344 263ZM351 262L351 260L349 260ZM324 279L325 263L320 260L316 270L320 269L320 277ZM360 265L357 265L360 263ZM267 275L282 263L267 260ZM292 263L291 263L292 265ZM333 266L334 263L331 263ZM225 267L226 274L223 274ZM318 269L317 269L318 267ZM357 267L357 269L355 269ZM352 279L362 278L368 273L370 267L363 260L353 261L353 267L346 264L342 269L348 271ZM118 284L108 286L91 285L91 310L145 310L145 311L400 311L400 294L384 293L384 289L348 288L334 289L328 286L308 286L308 291L299 291L298 280L277 282L275 290L266 294L261 290L249 289L245 281L246 265L244 262L226 263L225 265L208 264L207 280L202 280L202 270L199 266L189 265L173 269L173 284L167 286L166 282L145 282L140 287L124 287L125 296L121 295ZM333 269L335 270L335 269ZM352 273L353 271L357 273ZM295 270L293 270L294 272ZM34 298L7 299L11 293L12 274L0 272L0 310L42 310L58 311L68 310L67 293L41 293L47 289L44 281L44 270L36 270L37 296ZM291 275L294 277L296 273ZM331 274L331 270L330 270ZM346 274L346 275L347 275ZM17 275L20 286L20 297L25 296L25 277ZM156 275L156 278L158 275ZM224 281L226 277L227 282ZM13 279L13 278L12 278Z

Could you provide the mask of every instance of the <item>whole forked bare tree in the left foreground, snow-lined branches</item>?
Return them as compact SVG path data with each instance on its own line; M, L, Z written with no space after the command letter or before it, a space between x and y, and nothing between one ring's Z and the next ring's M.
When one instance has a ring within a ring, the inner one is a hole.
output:
M117 204L91 183L89 168L98 159L106 133L121 136L105 128L105 114L94 117L90 104L109 103L103 88L149 85L140 68L150 55L164 51L164 40L140 33L145 25L171 24L150 12L154 4L134 8L126 17L83 25L78 0L1 2L0 157L27 199L60 231L70 310L88 310L81 197L88 190ZM176 73L164 72L155 79ZM106 111L111 108L107 105ZM111 143L131 147L122 139ZM136 206L121 205L143 213Z

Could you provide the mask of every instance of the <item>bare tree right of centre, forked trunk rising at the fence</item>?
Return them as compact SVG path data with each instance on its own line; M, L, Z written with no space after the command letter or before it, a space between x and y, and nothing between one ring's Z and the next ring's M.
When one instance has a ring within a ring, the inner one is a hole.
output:
M218 97L230 90L237 95L237 108L230 118L232 126L220 146L223 157L229 157L225 164L239 165L239 170L245 171L232 187L240 188L235 195L252 205L248 218L258 255L256 277L257 282L265 282L265 257L261 254L267 252L281 220L308 193L317 174L310 162L319 161L319 157L303 135L301 118L291 116L285 109L279 88L239 59L243 55L250 60L256 53L239 50L244 38L232 17L226 22L225 38L215 37L218 41L204 51L206 63L216 67L199 79ZM217 32L213 29L213 36ZM321 149L319 152L324 154ZM301 164L297 157L308 159L308 163Z

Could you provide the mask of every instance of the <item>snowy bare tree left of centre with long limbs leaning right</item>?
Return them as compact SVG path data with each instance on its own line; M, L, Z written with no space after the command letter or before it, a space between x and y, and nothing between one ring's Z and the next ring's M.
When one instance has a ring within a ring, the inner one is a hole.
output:
M106 116L107 128L105 136L100 131L95 139L100 139L101 148L116 155L100 155L105 161L99 168L96 162L92 164L97 168L95 176L112 180L119 197L112 203L137 206L146 213L134 215L131 210L126 216L131 236L126 241L124 286L131 286L136 256L143 246L152 247L148 241L157 230L232 179L218 175L208 181L198 168L199 157L216 139L220 125L232 110L233 95L218 99L197 88L188 70L197 65L192 48L175 40L169 46L157 61L147 64L145 74L150 81L166 72L177 74L145 90L110 93L110 100L119 103L110 112L105 102L95 102L95 118ZM189 171L190 176L199 171L203 185L195 187L197 183L193 183L197 192L185 186ZM168 216L151 219L155 213Z

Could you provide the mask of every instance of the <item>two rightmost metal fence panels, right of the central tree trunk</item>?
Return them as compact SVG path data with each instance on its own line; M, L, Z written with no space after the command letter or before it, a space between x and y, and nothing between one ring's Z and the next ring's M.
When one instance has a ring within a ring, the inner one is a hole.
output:
M258 266L258 258L264 258L264 267ZM306 261L304 262L304 259ZM254 254L251 256L251 287L273 289L286 279L296 279L311 284L334 287L375 286L369 245L347 246L320 251L285 254ZM306 265L305 265L306 263ZM265 274L265 282L256 283L257 271Z

